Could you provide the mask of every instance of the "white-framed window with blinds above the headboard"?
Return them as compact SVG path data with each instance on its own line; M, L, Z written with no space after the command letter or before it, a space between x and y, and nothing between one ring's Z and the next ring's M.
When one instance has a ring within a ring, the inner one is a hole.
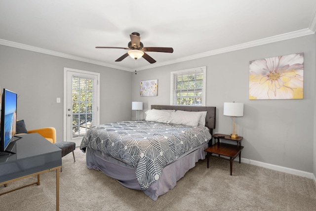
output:
M170 104L205 106L206 67L171 72Z

